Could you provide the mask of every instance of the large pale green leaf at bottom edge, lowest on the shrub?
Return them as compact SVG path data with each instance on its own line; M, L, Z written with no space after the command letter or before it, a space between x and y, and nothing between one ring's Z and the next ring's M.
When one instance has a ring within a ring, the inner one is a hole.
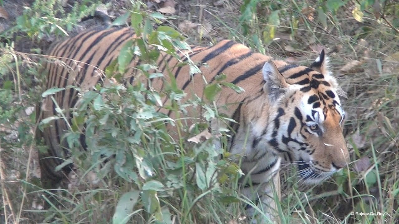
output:
M113 224L125 224L130 220L133 207L137 203L140 191L129 191L124 193L118 201L115 213L112 218Z

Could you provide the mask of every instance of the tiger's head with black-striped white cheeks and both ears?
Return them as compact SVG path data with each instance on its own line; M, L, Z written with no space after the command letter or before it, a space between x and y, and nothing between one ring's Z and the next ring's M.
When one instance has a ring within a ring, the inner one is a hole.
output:
M277 63L277 62L276 62ZM275 116L269 144L298 165L303 183L315 184L345 167L349 152L342 134L343 93L327 67L324 50L310 67L265 63L264 91ZM270 129L269 129L270 130Z

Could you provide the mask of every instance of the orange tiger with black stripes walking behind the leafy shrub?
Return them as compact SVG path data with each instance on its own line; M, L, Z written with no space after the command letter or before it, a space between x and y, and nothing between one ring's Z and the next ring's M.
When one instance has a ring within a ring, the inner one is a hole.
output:
M99 82L97 71L118 57L121 47L134 37L130 28L111 28L84 31L55 44L48 55L65 63L44 64L47 83L44 89L78 85L89 89ZM223 40L210 47L194 47L185 51L181 61L200 63L202 75L190 76L189 67L173 56L161 54L160 71L173 68L178 87L186 92L203 94L205 77L212 83L221 73L226 81L241 86L245 92L237 94L224 88L215 98L218 106L229 105L223 112L237 121L229 124L233 129L227 149L232 154L244 155L241 170L250 175L251 184L243 186L243 193L260 198L265 213L271 220L276 209L273 189L280 198L279 168L283 158L298 165L304 183L320 183L348 164L349 153L342 134L345 112L338 94L342 90L328 70L324 50L310 67L289 64L270 56L256 53L241 43ZM130 68L139 62L132 60ZM207 66L205 66L207 64ZM67 69L69 67L69 69ZM130 69L126 80L133 83ZM168 75L152 80L153 88L162 88ZM61 108L73 108L77 90L67 89L54 95ZM186 98L183 100L187 100ZM49 96L37 106L37 120L57 114L55 103ZM168 110L161 108L168 114ZM194 111L192 111L194 113ZM71 115L68 110L64 114ZM53 120L38 138L43 138L49 149L39 151L43 186L54 188L69 172L56 172L54 168L67 156L67 144L61 136L67 130L64 120ZM84 143L82 143L84 144ZM58 159L57 157L61 158ZM276 195L276 194L275 194Z

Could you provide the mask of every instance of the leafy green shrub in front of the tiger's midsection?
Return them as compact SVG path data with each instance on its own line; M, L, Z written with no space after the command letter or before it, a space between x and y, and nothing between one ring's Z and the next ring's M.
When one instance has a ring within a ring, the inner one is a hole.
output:
M85 173L95 171L100 179L116 174L115 182L121 186L121 196L118 197L113 223L126 223L138 215L146 223L171 224L173 216L181 223L195 220L203 222L201 220L211 218L212 214L205 210L198 213L203 216L193 216L193 209L206 208L203 206L206 203L219 204L219 200L225 201L226 198L230 202L239 201L230 195L233 193L231 188L225 186L230 181L236 183L241 171L229 160L218 159L223 149L215 148L212 139L201 144L187 141L188 137L207 130L209 124L198 124L193 131L183 134L189 127L181 120L172 120L158 112L158 108L163 106L170 109L180 118L185 107L201 106L206 111L207 121L225 121L227 118L217 113L212 102L214 96L221 88L231 88L236 92L242 92L243 89L223 82L226 76L220 75L216 77L216 83L205 87L205 99L194 96L193 100L182 104L180 100L186 94L177 88L173 74L157 71L156 60L161 52L180 59L177 49L189 49L188 44L173 28L153 28L160 14L147 14L140 7L126 14L137 19L131 26L139 34L138 38L122 46L117 59L107 67L106 76L113 78L108 79L111 83L97 84L93 90L82 93L78 108L72 109L73 121L64 138L73 156L57 169L73 161ZM129 18L126 14L115 20L115 24L124 24ZM135 68L136 82L120 84L133 58L140 59L140 65ZM178 66L190 66L193 73L199 71L191 60ZM157 92L151 86L151 79L164 75L170 76L171 81L164 84L162 92ZM78 89L71 86L67 88ZM51 88L42 96L61 90L63 88ZM165 96L170 103L162 105L161 98ZM59 112L58 116L42 120L40 128L50 120L63 119L62 111L59 108L56 111ZM168 132L166 124L176 126L177 133ZM83 154L76 150L82 130L87 144L87 153ZM177 142L170 135L177 135ZM106 165L97 166L105 160ZM126 189L122 186L129 187Z

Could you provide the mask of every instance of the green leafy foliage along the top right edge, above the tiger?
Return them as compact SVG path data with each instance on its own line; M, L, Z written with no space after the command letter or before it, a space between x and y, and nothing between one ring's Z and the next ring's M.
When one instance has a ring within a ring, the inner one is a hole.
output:
M388 14L393 16L393 23L399 23L399 20L396 19L399 16L399 5L393 0L327 0L317 1L316 4L307 1L287 3L284 1L245 0L240 7L239 24L243 35L251 37L249 44L264 52L263 44L269 45L275 40L276 29L284 30L280 26L290 28L291 38L294 39L298 22L305 19L301 13L302 10L312 7L318 14L317 22L324 30L327 30L329 26L335 26L336 23L339 23L336 15L340 10L351 5L355 6L352 10L352 16L358 22L364 22L365 16L382 22L382 20L386 20L385 15ZM304 23L308 29L311 29L308 21L304 20ZM391 25L391 28L392 31L399 31L394 25Z

